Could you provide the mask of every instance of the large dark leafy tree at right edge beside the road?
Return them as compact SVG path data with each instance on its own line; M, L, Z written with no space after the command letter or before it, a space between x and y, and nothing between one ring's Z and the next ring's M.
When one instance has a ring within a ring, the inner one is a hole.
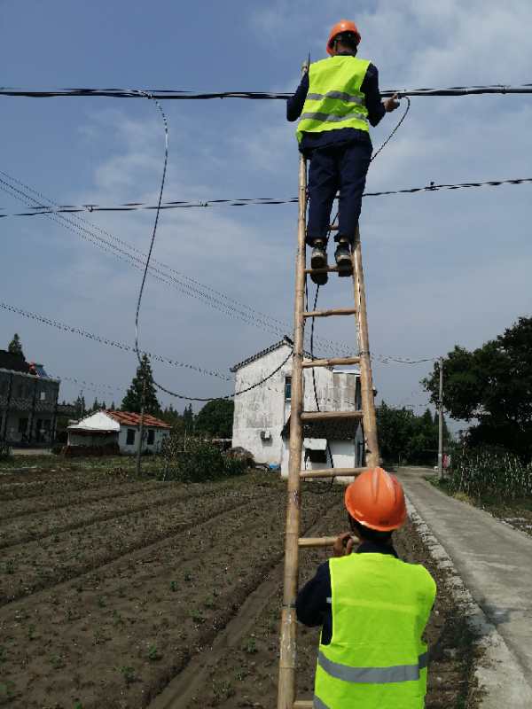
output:
M422 380L434 402L439 377L436 363ZM532 456L532 317L472 352L457 345L443 360L443 403L451 417L473 421L469 443Z

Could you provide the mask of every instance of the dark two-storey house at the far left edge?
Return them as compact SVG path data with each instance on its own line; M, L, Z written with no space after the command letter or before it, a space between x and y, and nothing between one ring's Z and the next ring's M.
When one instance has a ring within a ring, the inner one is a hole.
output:
M0 350L0 440L14 446L50 445L55 437L59 379L42 364Z

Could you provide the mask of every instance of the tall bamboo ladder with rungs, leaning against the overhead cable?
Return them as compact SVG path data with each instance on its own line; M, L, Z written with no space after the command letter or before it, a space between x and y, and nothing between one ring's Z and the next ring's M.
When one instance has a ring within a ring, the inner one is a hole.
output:
M377 423L373 401L372 363L366 316L364 272L360 234L356 230L356 243L351 255L355 308L336 308L305 312L305 279L312 273L306 268L306 214L307 214L307 162L301 156L299 166L299 217L298 245L295 274L295 307L293 316L293 369L290 425L290 462L288 471L288 500L286 504L285 590L281 617L278 709L312 709L312 701L295 699L296 627L295 598L298 588L299 550L301 548L330 547L334 537L300 537L301 480L309 478L335 478L356 476L367 468L335 468L329 471L301 470L302 428L306 421L329 419L362 419L364 428L365 464L379 464ZM321 271L336 272L336 266ZM355 316L359 353L353 357L308 360L303 354L305 322L312 317ZM360 367L362 410L359 411L303 411L303 370L310 367L329 367L340 364L358 364Z

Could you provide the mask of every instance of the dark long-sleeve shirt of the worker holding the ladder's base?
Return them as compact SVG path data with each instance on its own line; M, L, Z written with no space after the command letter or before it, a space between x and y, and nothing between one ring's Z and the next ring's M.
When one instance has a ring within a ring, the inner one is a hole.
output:
M397 552L389 544L364 541L356 554L391 554ZM328 645L332 638L331 572L329 562L317 567L316 575L301 588L295 601L297 619L305 626L323 626L322 644Z

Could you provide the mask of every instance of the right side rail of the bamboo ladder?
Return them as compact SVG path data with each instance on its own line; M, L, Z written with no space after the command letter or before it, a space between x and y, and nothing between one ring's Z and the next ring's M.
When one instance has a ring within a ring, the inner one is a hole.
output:
M357 310L358 344L360 347L360 384L362 394L363 428L365 444L365 465L374 468L379 465L379 440L377 437L377 416L373 396L372 360L370 356L370 336L362 266L362 246L360 231L356 227L353 260L353 284L355 287L355 307Z

